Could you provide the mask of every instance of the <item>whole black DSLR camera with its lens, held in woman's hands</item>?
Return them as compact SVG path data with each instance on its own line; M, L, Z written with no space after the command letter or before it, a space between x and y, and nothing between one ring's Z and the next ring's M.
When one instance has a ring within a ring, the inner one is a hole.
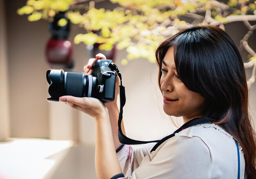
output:
M117 66L112 60L97 60L92 66L92 75L79 72L65 72L62 69L46 72L49 83L49 101L59 101L63 95L74 97L94 97L103 102L115 99Z

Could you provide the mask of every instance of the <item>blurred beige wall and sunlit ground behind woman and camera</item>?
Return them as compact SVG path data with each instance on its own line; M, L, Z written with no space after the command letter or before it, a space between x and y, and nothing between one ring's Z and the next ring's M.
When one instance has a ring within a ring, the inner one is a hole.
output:
M52 35L47 20L30 22L27 15L18 15L17 10L26 3L0 0L0 178L94 179L94 120L64 103L47 102L46 71L53 65L47 61L46 48ZM102 0L95 1L94 6L114 9L118 5ZM224 26L240 48L240 40L248 32L245 23ZM93 57L88 44L74 44L80 33L86 33L85 29L71 23L67 39L73 46L74 67L70 71L82 72ZM248 43L254 50L255 42L256 35L252 34ZM245 62L252 58L244 49L241 52ZM162 110L157 65L145 57L129 60L125 48L112 53L126 86L126 135L150 140L173 132L175 125ZM249 80L253 68L246 71ZM256 129L255 83L249 88L249 107ZM173 120L182 124L180 118Z

